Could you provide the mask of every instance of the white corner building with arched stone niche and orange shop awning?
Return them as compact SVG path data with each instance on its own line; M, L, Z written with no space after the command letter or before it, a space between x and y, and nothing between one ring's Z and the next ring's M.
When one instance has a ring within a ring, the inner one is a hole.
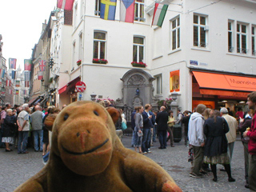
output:
M222 100L246 100L255 90L256 3L162 2L170 4L162 27L151 26L154 1L136 0L134 23L119 21L119 1L115 21L99 18L98 0L74 2L72 28L62 26L61 43L51 50L52 57L58 55L55 62L61 72L60 106L78 100L78 81L86 83L83 100L111 98L118 106L157 106L174 91L182 110L198 103L234 110L234 102L227 105ZM108 62L94 63L97 58Z

